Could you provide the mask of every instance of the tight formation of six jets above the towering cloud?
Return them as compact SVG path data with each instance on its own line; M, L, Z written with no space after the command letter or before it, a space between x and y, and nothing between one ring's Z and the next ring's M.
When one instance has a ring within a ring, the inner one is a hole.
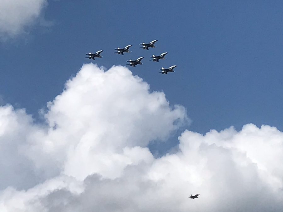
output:
M140 47L141 49L145 49L145 50L149 50L149 48L155 48L155 46L154 46L154 44L157 42L158 40L153 40L153 41L151 41L151 42L149 42L149 43L141 43L140 45L142 45L142 47ZM117 47L117 48L115 48L114 50L116 50L117 52L114 52L114 54L120 54L120 55L124 55L124 53L125 52L130 52L130 47L131 47L132 45L128 45L128 46L125 46L124 48L120 48L120 47ZM86 57L86 58L88 58L88 59L92 59L92 60L95 60L95 57L102 57L101 55L100 55L100 53L101 52L103 52L103 50L100 50L100 51L97 51L97 52L95 52L95 53L91 53L91 52L89 52L89 53L87 53L86 55L88 55L88 57ZM151 61L153 61L153 62L159 62L159 60L164 60L165 59L165 55L166 54L168 54L168 52L164 52L164 53L162 53L162 54L160 54L160 55L158 55L158 56L155 56L155 55L153 55L153 56L151 56L151 58L153 58L153 59L151 59ZM127 62L129 63L129 64L126 64L126 65L128 65L128 66L132 66L132 67L136 67L136 65L142 65L142 59L143 59L144 57L139 57L139 58L137 58L136 60L127 60ZM169 68L161 68L161 69L159 69L161 72L159 72L159 73L162 73L162 74L168 74L168 72L174 72L174 68L176 68L177 66L176 65L173 65L173 66L170 66Z

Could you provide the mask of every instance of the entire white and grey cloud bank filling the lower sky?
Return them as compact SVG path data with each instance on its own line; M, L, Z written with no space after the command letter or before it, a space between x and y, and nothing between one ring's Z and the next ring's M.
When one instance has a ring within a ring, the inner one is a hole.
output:
M84 65L44 117L0 108L1 212L282 210L282 132L186 130L154 158L147 145L188 123L186 110L125 67Z

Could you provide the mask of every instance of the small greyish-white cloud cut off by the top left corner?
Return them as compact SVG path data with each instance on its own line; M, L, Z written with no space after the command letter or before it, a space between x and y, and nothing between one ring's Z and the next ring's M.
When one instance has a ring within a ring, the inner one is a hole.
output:
M0 0L0 5L0 35L13 37L36 21L47 0Z

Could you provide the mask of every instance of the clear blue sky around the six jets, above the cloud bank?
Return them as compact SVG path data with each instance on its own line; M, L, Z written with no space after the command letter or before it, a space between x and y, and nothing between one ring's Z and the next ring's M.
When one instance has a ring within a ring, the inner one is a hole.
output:
M95 62L106 68L144 56L130 70L185 106L192 131L246 123L282 130L282 9L280 1L49 1L42 17L50 26L1 42L0 94L37 117L89 63L85 53L103 49ZM157 48L139 49L154 39ZM113 54L128 44L131 53ZM162 52L164 61L149 61ZM175 73L158 73L174 64Z

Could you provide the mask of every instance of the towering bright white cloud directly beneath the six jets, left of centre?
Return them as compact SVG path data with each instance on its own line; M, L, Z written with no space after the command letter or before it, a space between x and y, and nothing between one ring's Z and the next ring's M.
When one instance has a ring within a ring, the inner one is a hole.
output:
M48 103L47 126L34 124L24 110L0 107L0 168L10 173L1 175L2 188L28 188L60 173L115 178L129 164L153 160L139 148L167 139L187 117L164 93L148 90L127 68L104 72L88 64ZM25 181L23 171L36 180Z

